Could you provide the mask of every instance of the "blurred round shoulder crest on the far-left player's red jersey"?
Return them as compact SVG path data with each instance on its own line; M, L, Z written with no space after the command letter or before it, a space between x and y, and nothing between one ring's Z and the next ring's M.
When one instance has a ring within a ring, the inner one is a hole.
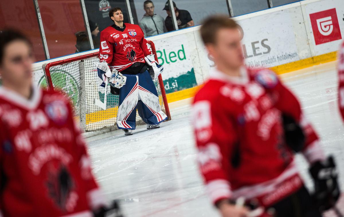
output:
M66 123L68 117L68 108L63 101L56 100L45 106L47 116L56 124Z

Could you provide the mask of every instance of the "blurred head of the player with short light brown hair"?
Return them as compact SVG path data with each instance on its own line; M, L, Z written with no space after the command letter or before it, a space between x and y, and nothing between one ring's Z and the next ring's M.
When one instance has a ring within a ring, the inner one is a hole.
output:
M241 27L228 16L211 16L203 22L201 37L218 67L238 69L244 65Z

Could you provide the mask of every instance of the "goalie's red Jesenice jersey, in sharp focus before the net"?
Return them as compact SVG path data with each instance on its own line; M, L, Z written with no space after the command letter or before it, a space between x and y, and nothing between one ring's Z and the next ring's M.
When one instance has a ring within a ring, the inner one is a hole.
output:
M124 23L123 28L111 25L100 32L99 59L118 71L134 62L145 62L152 49L139 25Z

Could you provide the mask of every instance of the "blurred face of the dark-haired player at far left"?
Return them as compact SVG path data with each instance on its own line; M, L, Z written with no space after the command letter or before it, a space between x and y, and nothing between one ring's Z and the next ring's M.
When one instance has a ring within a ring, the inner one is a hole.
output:
M33 61L32 48L28 43L22 40L8 43L4 47L0 65L3 85L19 87L31 85Z

